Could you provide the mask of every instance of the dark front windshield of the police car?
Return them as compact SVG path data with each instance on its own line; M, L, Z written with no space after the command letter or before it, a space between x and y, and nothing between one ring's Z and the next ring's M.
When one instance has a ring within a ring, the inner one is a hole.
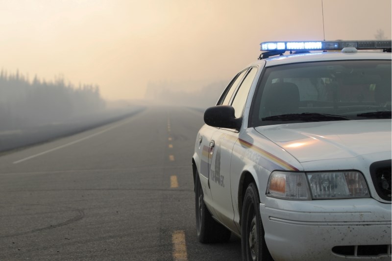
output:
M391 61L351 60L266 68L249 126L391 119Z

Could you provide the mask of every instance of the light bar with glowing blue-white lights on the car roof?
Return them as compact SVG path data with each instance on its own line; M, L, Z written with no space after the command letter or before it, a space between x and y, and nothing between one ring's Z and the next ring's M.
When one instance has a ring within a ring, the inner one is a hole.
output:
M385 49L392 47L391 40L362 40L362 41L295 41L295 42L263 42L260 44L261 51L276 50L342 50L344 47L356 49Z

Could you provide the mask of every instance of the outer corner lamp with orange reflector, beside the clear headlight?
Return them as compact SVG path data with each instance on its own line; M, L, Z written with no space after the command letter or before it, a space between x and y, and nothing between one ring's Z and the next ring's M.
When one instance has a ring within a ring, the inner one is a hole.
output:
M274 171L267 184L267 195L271 197L310 200L305 173Z

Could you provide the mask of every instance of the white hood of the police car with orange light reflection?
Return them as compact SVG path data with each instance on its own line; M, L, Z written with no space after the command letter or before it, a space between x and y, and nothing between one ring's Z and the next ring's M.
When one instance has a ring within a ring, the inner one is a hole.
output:
M391 151L391 120L344 120L255 128L299 162L354 158Z

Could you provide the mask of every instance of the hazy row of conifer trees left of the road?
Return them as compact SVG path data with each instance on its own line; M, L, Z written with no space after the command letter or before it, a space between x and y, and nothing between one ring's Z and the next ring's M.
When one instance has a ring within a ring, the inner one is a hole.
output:
M30 81L19 71L0 71L0 131L61 122L104 107L98 86L76 87L62 76L50 82L35 76Z

